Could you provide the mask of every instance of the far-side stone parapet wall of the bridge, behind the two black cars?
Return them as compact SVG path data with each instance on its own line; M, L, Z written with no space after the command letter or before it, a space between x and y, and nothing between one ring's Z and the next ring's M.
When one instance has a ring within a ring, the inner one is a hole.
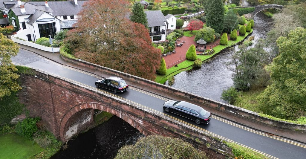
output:
M253 127L259 130L266 131L266 130L269 130L270 127L273 127L279 130L286 129L289 131L306 132L306 125L293 124L293 123L288 123L285 121L272 120L266 117L259 116L258 113L247 110L247 109L236 107L234 105L225 104L222 102L217 102L212 99L208 99L208 98L205 98L205 97L202 97L196 94L192 94L186 91L181 91L176 88L169 87L169 86L166 86L160 83L156 83L150 80L146 80L144 78L133 76L133 75L130 75L124 72L120 72L120 71L106 68L103 66L95 65L95 64L83 61L83 60L68 59L66 57L62 57L62 58L66 61L75 63L76 65L84 66L87 68L92 68L100 72L106 72L114 76L122 77L125 80L132 81L134 83L138 83L139 85L146 86L148 89L150 88L150 90L156 89L158 91L167 92L168 94L175 95L178 98L185 99L188 102L193 102L197 105L200 105L204 109L208 109L209 111L211 111L213 114L225 117L227 119L236 121L238 123L241 123L244 125L249 125L250 122L260 124L260 126L258 127ZM275 132L269 132L269 133L275 134ZM280 134L275 134L275 135L280 135ZM284 137L291 138L290 136L284 136Z

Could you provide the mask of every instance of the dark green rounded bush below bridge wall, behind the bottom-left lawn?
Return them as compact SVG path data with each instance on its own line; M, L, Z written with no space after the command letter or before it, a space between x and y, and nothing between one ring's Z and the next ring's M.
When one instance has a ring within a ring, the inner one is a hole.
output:
M15 128L16 133L27 139L32 139L33 134L38 130L36 123L39 120L39 118L26 118L22 122L18 122Z

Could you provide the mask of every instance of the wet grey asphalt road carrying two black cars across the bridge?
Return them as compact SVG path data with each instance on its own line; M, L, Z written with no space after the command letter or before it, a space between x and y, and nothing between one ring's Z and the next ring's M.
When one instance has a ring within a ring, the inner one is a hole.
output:
M18 55L16 57L12 57L11 59L16 65L26 65L28 67L40 69L93 88L95 88L94 82L99 79L98 76L94 74L55 63L33 52L23 49L20 49ZM101 91L113 94L112 91L107 91L104 89L101 89ZM161 113L165 113L162 109L162 104L166 100L169 100L156 94L139 90L135 87L131 87L124 93L113 95L118 96L119 98L124 98L125 100L135 104L154 109ZM193 125L194 127L203 131L217 135L219 138L234 141L242 146L256 150L257 152L270 158L306 158L306 145L303 143L270 136L263 132L248 128L215 115L212 115L212 119L209 124L201 125L196 125L192 120L188 120L172 113L167 115L186 124Z

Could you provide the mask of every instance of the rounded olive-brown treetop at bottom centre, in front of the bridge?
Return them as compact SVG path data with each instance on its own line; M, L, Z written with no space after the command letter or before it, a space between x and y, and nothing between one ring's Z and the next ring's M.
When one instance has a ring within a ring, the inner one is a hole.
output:
M125 158L190 158L207 159L205 152L178 138L150 135L140 138L135 145L123 146L115 159Z

